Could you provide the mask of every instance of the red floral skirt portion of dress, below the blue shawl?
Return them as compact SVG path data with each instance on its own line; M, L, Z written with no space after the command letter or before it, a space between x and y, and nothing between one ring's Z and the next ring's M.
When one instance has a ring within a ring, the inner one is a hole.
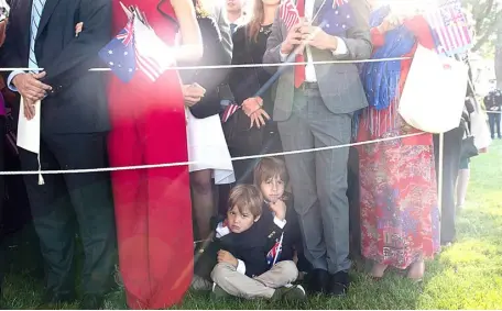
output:
M361 251L368 259L405 269L440 247L433 138L424 135L429 137L419 144L397 138L359 148Z

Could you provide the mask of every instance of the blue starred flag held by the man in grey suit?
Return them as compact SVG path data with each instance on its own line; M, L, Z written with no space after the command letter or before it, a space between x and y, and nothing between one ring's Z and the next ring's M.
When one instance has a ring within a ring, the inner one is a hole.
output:
M319 24L329 35L346 36L354 25L352 7L348 0L327 0L319 11Z

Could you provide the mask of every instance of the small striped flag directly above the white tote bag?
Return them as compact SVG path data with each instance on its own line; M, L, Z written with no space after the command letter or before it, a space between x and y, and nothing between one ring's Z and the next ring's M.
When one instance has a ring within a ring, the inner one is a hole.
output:
M454 55L467 52L472 45L466 14L460 1L447 1L437 9L426 13L430 25L436 49L439 54Z

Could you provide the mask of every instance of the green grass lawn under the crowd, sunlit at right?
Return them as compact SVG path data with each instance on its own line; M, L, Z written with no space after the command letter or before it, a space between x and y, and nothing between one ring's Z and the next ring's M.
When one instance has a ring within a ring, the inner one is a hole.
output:
M17 248L15 263L30 266L29 252ZM215 302L207 295L187 293L176 308L502 309L502 142L494 142L489 154L472 159L467 204L458 218L458 243L427 263L423 284L413 284L397 273L378 282L360 273L352 273L352 279L350 292L342 299L310 297L306 303L288 306L238 299ZM36 308L41 290L41 281L29 273L11 273L6 280L7 308ZM111 293L106 307L126 309L123 293Z

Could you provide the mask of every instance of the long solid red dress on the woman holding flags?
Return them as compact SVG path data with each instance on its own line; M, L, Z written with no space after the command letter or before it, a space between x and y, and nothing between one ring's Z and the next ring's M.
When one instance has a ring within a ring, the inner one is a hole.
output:
M173 45L176 25L157 11L159 0L121 0L138 5L156 34ZM163 12L175 19L170 1ZM113 31L127 23L113 0ZM112 77L109 88L112 167L187 162L186 119L175 70L155 82L137 71L129 84ZM177 303L193 275L192 204L188 166L111 174L120 271L132 309Z

